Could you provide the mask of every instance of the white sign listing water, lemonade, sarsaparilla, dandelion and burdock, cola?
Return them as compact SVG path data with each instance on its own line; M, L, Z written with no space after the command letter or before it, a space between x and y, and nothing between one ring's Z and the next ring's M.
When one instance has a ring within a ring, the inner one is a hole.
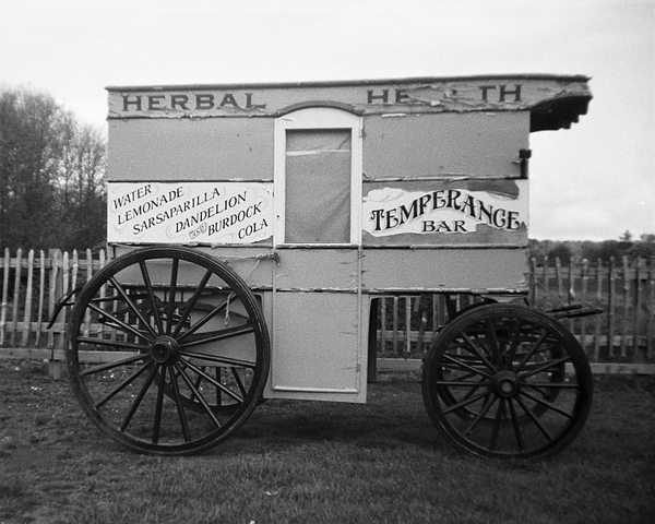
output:
M130 243L251 243L273 235L273 186L109 183L107 239Z

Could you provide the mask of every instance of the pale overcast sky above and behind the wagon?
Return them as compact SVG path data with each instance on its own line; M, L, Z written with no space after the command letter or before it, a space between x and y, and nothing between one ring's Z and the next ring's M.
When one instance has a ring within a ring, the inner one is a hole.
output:
M653 0L0 0L0 86L106 128L107 85L592 76L531 135L531 238L655 234Z

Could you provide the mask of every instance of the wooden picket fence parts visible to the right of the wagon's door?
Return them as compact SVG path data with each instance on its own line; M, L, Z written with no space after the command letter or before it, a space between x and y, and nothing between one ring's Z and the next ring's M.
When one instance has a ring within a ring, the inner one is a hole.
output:
M454 297L460 310L478 300ZM655 364L655 259L562 264L533 260L527 301L541 310L580 305L600 314L563 320L592 362ZM448 319L445 297L380 299L378 355L417 359Z

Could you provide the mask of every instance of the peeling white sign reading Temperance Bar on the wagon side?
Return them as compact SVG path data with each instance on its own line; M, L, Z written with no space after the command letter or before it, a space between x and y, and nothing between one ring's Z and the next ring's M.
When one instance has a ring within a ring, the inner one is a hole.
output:
M402 234L469 234L479 225L504 231L527 226L527 194L440 189L383 188L364 198L364 230L374 237Z

